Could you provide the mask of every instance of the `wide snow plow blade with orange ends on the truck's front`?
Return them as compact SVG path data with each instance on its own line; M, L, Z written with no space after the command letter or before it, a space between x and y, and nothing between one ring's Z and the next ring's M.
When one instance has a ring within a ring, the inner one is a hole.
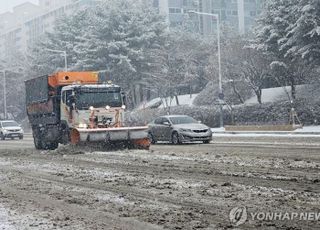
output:
M134 148L149 149L148 127L73 129L71 143L128 143Z

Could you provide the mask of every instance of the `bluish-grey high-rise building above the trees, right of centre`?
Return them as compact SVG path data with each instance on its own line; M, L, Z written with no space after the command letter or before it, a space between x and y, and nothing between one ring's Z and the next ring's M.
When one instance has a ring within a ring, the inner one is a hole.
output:
M217 25L212 16L192 15L189 11L218 14L222 24L239 34L253 27L265 0L154 0L153 5L167 15L171 26L191 24L194 31L204 35L215 33Z

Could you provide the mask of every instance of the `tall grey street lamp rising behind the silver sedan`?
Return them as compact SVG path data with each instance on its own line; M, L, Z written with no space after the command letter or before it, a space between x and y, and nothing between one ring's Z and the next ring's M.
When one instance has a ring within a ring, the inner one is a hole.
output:
M218 39L218 67L219 67L219 106L220 106L220 127L223 127L223 90L222 90L222 71L221 71L221 44L220 44L220 18L219 14L204 13L198 11L189 11L198 15L211 16L217 20L217 39Z

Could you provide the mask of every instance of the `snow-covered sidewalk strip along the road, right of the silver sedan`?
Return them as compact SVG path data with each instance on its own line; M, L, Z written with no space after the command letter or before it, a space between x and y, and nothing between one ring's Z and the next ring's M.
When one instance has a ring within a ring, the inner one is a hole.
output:
M224 128L212 128L213 136L286 136L286 137L319 137L320 126L306 126L294 131L225 131Z

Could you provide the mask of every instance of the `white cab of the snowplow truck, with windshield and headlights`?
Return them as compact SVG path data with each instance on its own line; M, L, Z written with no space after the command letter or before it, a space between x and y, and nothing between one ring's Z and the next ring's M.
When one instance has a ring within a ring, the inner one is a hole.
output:
M61 91L61 121L79 129L121 127L124 94L113 84L70 85Z

